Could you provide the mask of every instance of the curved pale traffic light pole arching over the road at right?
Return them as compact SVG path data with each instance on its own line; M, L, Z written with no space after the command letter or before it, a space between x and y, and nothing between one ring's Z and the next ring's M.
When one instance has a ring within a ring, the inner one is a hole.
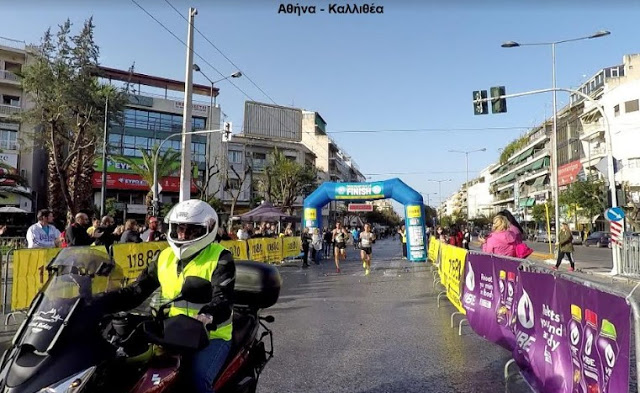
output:
M525 91L523 93L505 94L499 97L474 99L473 102L474 104L477 104L482 102L489 102L495 99L515 98L515 97L531 96L531 95L543 94L543 93L554 93L555 95L555 93L558 91L579 95L580 97L584 98L585 100L595 105L596 108L598 108L600 115L602 115L602 118L604 119L605 141L606 141L605 143L607 148L607 177L609 179L609 192L611 193L611 207L617 207L618 198L616 194L616 180L615 180L615 172L613 167L613 150L611 148L611 129L609 128L609 120L607 119L607 114L605 113L604 106L602 106L602 104L600 104L598 101L594 100L593 98L589 97L588 95L578 90L555 87L550 89ZM552 153L554 158L558 154L557 151L553 151ZM555 192L556 193L558 192L557 188ZM556 228L556 237L557 237L557 233L558 233L558 228ZM613 268L611 269L611 274L615 275L620 272L620 246L616 243L613 243L611 247L611 251L612 251L612 257L613 257Z

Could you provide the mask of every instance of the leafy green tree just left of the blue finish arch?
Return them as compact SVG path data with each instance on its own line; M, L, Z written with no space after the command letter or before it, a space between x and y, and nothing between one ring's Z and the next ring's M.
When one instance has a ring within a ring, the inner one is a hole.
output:
M291 214L296 198L317 188L317 173L314 166L301 165L275 149L265 167L263 192L275 206Z

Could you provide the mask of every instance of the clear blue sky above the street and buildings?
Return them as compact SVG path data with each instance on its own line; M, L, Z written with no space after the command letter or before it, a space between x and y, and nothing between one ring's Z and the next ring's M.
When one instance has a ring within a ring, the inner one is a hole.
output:
M140 3L186 39L186 23L163 0ZM599 69L621 64L624 54L640 52L640 6L631 0L535 2L537 7L506 0L375 3L384 5L383 15L297 16L278 14L280 3L269 0L172 0L183 15L190 5L197 7L196 26L278 104L319 112L330 132L531 127L550 116L550 95L512 99L506 114L473 115L473 90L504 85L507 93L513 93L551 85L548 47L503 49L503 41L560 40L610 30L611 36L558 48L561 87L575 87ZM67 17L79 27L93 15L102 64L126 69L135 61L138 72L184 78L184 46L130 1L0 0L0 7L0 36L37 42L47 27ZM225 75L235 71L198 34L195 50ZM195 60L212 79L219 78L201 59ZM194 80L206 83L197 74ZM234 82L251 98L270 102L246 78ZM218 103L237 130L247 97L228 82L218 87ZM567 100L559 94L561 104ZM396 131L332 137L364 173L420 172L398 177L429 193L437 192L437 183L426 179L453 179L442 184L446 197L465 180L464 155L447 150L487 148L486 153L471 156L473 177L497 159L498 148L523 131ZM393 175L372 179L389 177ZM432 205L436 199L431 195Z

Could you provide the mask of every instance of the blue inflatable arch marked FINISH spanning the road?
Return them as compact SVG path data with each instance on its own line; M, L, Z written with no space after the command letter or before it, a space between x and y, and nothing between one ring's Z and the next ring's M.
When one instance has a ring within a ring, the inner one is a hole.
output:
M323 183L304 200L302 225L322 228L322 208L330 201L363 202L392 198L404 205L407 257L412 262L427 260L422 195L395 178L371 183Z

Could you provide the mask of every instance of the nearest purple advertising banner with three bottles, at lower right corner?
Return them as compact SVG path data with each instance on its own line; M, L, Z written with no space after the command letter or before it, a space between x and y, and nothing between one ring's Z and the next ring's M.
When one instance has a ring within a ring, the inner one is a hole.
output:
M518 272L513 356L537 391L627 392L630 308L623 298L553 275Z

